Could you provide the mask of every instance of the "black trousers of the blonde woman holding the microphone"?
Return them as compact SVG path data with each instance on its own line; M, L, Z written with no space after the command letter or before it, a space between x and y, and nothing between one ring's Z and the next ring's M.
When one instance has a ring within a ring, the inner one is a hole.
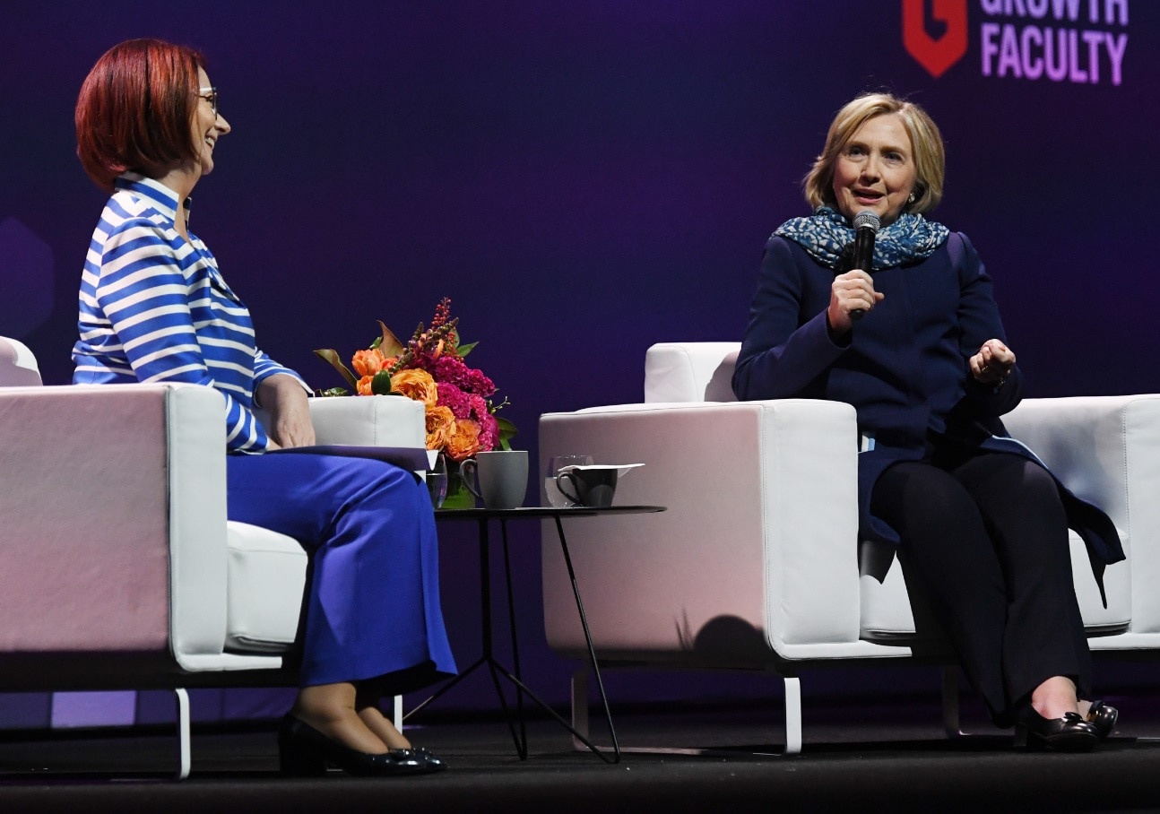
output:
M1067 521L1047 472L1015 455L940 453L887 468L871 513L999 726L1052 676L1085 697L1092 654L1075 599Z

